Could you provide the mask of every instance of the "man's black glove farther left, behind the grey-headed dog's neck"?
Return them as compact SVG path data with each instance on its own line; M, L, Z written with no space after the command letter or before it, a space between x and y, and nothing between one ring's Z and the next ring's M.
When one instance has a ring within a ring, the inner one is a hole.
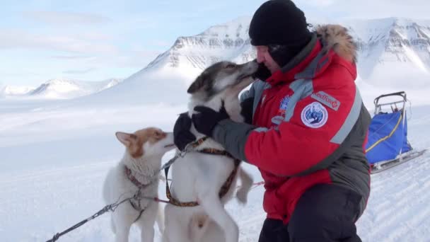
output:
M180 151L183 151L187 144L196 140L194 134L190 132L190 128L191 118L187 112L181 113L175 122L175 127L173 127L173 142Z

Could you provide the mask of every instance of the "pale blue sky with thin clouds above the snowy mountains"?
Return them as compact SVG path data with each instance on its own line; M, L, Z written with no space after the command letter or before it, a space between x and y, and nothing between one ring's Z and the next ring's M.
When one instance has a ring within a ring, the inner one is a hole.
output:
M180 36L252 16L265 1L2 0L0 86L127 78ZM430 1L297 0L310 20L426 19Z

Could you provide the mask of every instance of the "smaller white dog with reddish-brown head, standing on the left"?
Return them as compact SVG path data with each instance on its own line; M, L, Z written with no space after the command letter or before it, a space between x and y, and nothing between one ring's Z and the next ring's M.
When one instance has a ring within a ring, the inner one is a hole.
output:
M146 128L127 134L116 133L117 139L124 144L126 151L120 163L110 170L103 187L103 197L107 204L122 201L132 197L139 188L132 183L125 173L125 167L132 171L132 175L144 187L141 195L156 197L158 195L158 171L161 167L161 158L165 152L174 149L173 134L163 132L161 129ZM133 201L134 204L139 204ZM158 204L152 200L140 200L144 212L134 209L130 202L124 202L112 213L112 231L115 241L128 241L129 229L134 222L141 229L141 241L153 241L153 225L156 220L158 228L163 230L163 218L158 212ZM137 206L135 206L137 207Z

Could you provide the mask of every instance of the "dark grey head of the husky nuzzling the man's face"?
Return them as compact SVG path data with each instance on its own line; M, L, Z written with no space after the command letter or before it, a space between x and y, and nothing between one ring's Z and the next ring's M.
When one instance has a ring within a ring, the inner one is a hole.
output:
M204 100L209 100L227 88L238 90L237 93L239 93L254 81L251 76L257 69L258 64L255 61L245 64L217 62L205 69L191 84L187 92Z

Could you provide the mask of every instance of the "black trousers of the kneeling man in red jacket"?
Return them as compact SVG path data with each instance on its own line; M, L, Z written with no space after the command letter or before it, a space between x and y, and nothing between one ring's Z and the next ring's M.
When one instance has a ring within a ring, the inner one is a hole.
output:
M265 220L259 242L361 242L355 226L360 200L353 190L315 185L298 200L289 224Z

